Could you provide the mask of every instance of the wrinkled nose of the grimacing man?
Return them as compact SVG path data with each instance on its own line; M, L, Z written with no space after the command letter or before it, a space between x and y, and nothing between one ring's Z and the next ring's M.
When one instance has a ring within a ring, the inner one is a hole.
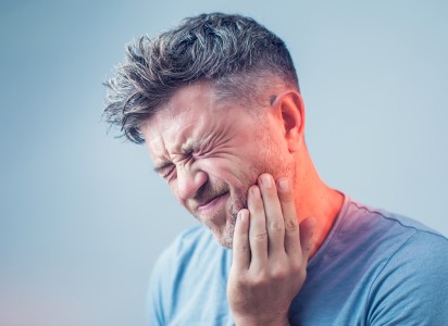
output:
M195 197L199 188L207 183L208 176L201 170L195 170L191 165L177 167L177 196L181 201Z

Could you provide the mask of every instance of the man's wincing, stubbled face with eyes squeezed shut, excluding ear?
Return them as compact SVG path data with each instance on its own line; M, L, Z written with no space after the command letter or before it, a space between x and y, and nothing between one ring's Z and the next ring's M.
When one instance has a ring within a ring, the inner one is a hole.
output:
M269 110L220 101L209 84L200 83L179 89L140 125L155 171L226 248L232 248L238 211L247 208L247 191L261 173L294 183L282 122Z

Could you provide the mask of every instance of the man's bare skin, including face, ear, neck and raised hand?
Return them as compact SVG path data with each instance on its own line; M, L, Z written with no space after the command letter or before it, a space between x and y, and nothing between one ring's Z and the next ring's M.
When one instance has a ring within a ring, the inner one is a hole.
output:
M300 95L276 86L261 97L266 104L249 105L220 100L207 83L186 86L140 130L177 200L234 249L227 297L236 324L288 325L343 196L308 154Z

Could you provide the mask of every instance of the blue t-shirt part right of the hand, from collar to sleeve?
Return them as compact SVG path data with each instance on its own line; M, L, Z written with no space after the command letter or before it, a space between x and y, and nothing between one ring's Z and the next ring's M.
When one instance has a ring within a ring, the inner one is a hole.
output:
M308 265L293 311L295 321L444 325L448 321L447 258L444 236L414 220L347 197Z

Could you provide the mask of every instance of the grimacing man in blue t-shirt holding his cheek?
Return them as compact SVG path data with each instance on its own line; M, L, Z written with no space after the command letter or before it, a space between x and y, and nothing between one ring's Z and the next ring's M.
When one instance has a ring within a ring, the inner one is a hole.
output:
M448 323L448 240L321 180L291 58L263 26L187 18L130 45L108 86L107 120L213 235L159 259L149 325Z

